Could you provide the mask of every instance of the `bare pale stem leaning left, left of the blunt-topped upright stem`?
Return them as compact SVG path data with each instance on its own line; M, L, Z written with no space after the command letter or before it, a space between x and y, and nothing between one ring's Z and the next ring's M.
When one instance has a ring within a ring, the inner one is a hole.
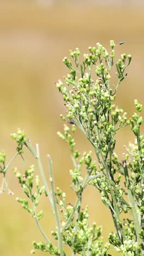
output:
M49 201L50 201L51 206L52 206L52 208L53 208L52 196L51 196L49 187L48 187L48 185L47 185L47 181L46 181L46 178L45 178L43 166L42 166L42 164L41 164L40 155L39 155L39 145L38 145L38 144L36 144L36 150L37 150L37 160L38 160L38 165L39 165L40 174L41 174L41 177L42 177L43 182L44 182L44 185L45 185L46 194L47 194L47 196L49 197Z

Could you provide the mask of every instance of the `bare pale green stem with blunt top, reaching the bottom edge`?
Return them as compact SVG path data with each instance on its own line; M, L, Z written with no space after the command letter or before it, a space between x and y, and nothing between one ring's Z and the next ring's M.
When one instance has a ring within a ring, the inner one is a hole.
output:
M61 231L61 222L59 219L59 214L57 210L57 203L56 203L56 193L55 193L55 186L53 182L53 171L52 171L52 160L50 155L47 155L49 160L49 171L50 171L50 183L51 183L51 191L52 191L52 201L53 201L53 211L55 212L56 216L56 223L57 223L57 231L58 231L58 248L59 254L63 256L63 240L62 240L62 231Z

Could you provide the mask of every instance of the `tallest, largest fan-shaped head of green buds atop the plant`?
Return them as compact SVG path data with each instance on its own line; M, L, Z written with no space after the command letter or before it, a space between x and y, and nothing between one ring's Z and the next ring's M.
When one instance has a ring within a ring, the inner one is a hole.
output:
M115 43L110 41L110 54L104 46L97 43L97 47L89 47L89 54L83 55L83 62L79 64L80 51L70 51L76 68L65 57L64 63L70 69L70 74L64 77L66 86L61 80L56 86L63 95L66 117L62 120L75 124L85 134L92 146L97 150L101 164L100 152L105 155L115 148L116 131L129 124L127 113L113 103L119 84L125 78L125 68L131 61L131 56L123 54L116 62L118 83L115 89L110 88L111 69L115 57ZM96 78L92 79L92 68L95 66Z

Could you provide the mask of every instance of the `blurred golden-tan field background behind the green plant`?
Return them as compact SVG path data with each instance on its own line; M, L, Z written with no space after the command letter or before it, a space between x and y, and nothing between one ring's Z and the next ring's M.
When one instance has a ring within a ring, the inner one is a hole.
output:
M83 54L88 52L88 46L95 46L97 42L109 49L109 40L115 43L125 40L123 45L116 46L116 59L121 53L131 54L133 59L116 101L130 116L134 112L134 98L143 103L143 17L143 1L0 1L1 150L7 152L8 162L16 146L10 133L16 132L17 127L24 129L33 144L39 143L45 172L48 170L46 155L51 155L55 184L67 193L68 202L75 200L69 188L69 170L73 165L67 143L56 135L57 131L63 131L59 114L65 113L62 97L55 88L55 81L68 73L62 59L69 55L69 49L79 47ZM80 152L92 149L78 130L75 139ZM122 159L123 145L133 141L133 135L124 129L117 140L116 153ZM29 255L32 241L43 240L34 219L15 200L23 194L13 167L23 171L34 164L38 172L37 162L29 153L25 156L25 165L18 158L9 169L9 188L14 195L1 195L0 253L4 256ZM82 202L82 206L85 205L89 205L90 224L95 221L102 225L106 239L113 223L94 188L86 190ZM41 200L40 209L44 210L41 224L51 238L50 232L56 224L45 198ZM65 252L71 255L68 249Z

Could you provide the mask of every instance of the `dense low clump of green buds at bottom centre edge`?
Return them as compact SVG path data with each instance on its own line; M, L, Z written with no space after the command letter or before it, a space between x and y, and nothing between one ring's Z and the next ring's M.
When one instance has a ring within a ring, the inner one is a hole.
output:
M74 206L68 204L67 212L71 213ZM61 211L63 212L63 211ZM96 223L89 228L88 225L88 206L80 211L79 219L76 219L63 232L63 242L73 249L74 253L81 255L107 255L110 243L103 245L103 237L101 236L101 227L97 227ZM62 226L65 223L62 222ZM57 240L57 232L52 231L52 236Z

